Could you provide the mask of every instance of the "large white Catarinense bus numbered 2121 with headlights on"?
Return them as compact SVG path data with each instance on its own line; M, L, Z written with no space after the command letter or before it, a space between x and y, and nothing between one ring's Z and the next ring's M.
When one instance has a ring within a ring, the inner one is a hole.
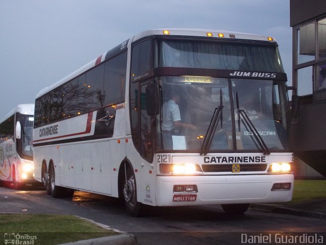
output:
M290 201L286 80L274 38L142 32L39 92L35 179L53 197L123 198L132 215Z

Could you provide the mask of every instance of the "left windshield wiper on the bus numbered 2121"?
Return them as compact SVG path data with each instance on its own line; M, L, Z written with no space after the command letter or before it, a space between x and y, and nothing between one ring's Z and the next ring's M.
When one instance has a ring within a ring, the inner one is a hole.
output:
M222 89L220 90L220 106L216 107L210 120L203 145L201 146L200 155L206 155L210 146L212 144L216 128L218 127L219 121L221 119L221 128L222 128L222 120L223 120L223 99L222 99Z

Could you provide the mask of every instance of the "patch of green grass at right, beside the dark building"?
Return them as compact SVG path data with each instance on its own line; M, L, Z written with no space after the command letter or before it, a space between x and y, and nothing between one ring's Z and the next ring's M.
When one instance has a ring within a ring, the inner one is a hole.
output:
M326 199L326 180L295 180L289 204Z

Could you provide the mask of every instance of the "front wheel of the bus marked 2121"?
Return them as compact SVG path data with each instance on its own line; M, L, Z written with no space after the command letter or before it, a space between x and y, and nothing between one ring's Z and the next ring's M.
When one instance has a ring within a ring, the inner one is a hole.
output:
M126 169L123 183L123 197L127 212L131 216L140 216L142 204L137 202L136 180L131 167Z

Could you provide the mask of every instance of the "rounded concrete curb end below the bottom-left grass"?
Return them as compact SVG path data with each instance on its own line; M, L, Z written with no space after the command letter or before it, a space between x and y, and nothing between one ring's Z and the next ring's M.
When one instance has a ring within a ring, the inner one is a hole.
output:
M132 234L105 236L89 240L80 240L60 245L138 245L137 237Z

